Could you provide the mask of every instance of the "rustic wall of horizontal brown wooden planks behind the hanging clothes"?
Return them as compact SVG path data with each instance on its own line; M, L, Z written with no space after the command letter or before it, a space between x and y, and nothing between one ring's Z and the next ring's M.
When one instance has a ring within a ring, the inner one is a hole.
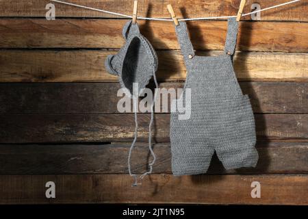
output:
M131 14L129 0L70 0ZM261 8L285 0L248 0ZM105 57L123 45L117 16L55 3L55 21L44 16L47 0L0 0L0 203L214 203L308 205L308 4L300 1L249 16L240 24L235 71L255 113L259 163L224 170L214 157L207 175L173 177L169 113L155 115L154 174L131 188L127 155L133 114L116 110L117 78ZM168 18L236 14L240 0L146 0L139 15ZM138 21L157 50L159 86L181 88L185 66L172 23ZM189 22L201 55L222 52L227 22ZM149 162L149 114L138 116L133 170ZM45 183L56 198L45 198ZM251 183L261 198L251 198ZM137 191L137 192L136 192Z

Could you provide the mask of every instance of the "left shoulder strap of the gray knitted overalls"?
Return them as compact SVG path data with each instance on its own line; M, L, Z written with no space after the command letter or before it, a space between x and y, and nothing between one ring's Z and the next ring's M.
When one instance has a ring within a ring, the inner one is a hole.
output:
M175 26L175 32L177 34L177 40L181 47L181 51L185 60L194 56L194 48L192 47L192 42L188 36L188 30L186 23L179 21L179 25Z

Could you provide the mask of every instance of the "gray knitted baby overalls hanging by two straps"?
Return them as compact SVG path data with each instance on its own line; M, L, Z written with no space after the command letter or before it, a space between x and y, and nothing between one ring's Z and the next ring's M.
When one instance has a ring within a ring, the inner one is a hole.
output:
M188 120L171 113L173 174L207 172L215 151L226 169L255 167L253 110L248 96L242 94L232 62L238 22L229 18L225 54L215 57L194 54L185 22L175 29L188 72L180 99L185 100L185 89L190 88L192 112Z

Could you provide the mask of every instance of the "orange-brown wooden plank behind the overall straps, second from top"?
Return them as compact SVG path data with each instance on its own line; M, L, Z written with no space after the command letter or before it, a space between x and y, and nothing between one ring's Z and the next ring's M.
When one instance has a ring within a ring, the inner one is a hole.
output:
M140 29L155 49L179 49L171 22L144 22ZM0 20L0 48L114 48L123 46L124 20L25 18ZM226 21L188 23L194 49L222 50ZM243 51L308 51L308 23L242 22L238 49Z

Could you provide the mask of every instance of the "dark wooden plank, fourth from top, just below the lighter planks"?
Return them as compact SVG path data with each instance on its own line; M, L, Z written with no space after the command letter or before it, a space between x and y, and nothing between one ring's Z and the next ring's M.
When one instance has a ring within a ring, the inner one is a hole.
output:
M308 113L308 83L241 82L240 86L255 113ZM159 87L177 89L183 83ZM123 98L117 96L118 89L118 83L0 83L0 114L114 114ZM168 112L172 100L169 95Z

